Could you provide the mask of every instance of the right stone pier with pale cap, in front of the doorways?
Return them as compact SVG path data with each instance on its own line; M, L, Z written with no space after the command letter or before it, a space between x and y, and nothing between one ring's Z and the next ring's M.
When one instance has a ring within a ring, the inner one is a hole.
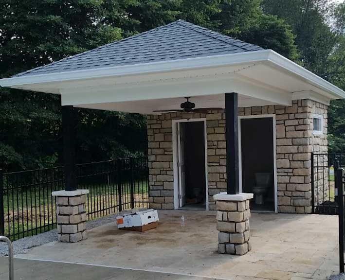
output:
M251 250L249 242L251 216L249 200L253 193L214 195L217 206L218 253L244 255Z

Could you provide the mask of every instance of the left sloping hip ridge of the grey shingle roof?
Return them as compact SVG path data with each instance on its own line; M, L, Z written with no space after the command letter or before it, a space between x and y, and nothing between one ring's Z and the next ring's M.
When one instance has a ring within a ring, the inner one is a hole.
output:
M68 60L68 59L71 59L71 58L74 58L74 57L83 55L83 54L85 54L85 53L91 53L91 52L93 52L93 51L95 51L95 50L102 49L102 48L107 47L107 46L109 46L109 45L116 45L116 44L118 44L118 43L120 43L120 42L127 41L127 40L132 39L132 38L137 38L137 37L139 37L139 36L141 36L141 35L145 35L145 34L147 34L147 33L150 33L150 32L156 31L156 30L158 30L158 29L161 29L161 28L163 28L163 27L167 27L167 26L169 26L169 25L172 25L172 24L174 24L174 23L176 23L177 21L180 21L180 20L182 20L182 19L179 19L179 20L176 20L176 21L172 21L172 22L170 22L170 23L168 23L168 24L161 25L161 26L158 26L158 27L155 27L155 28L146 30L146 31L144 31L144 32L141 32L141 33L138 33L138 34L135 34L135 35L132 35L132 36L123 38L123 39L121 39L121 40L117 40L117 41L110 42L110 43L108 43L108 44L105 44L105 45L102 45L102 46L93 48L93 49L91 49L91 50L87 50L87 51L82 52L82 53L76 53L76 54L73 54L73 55L69 55L69 56L67 56L67 57L64 57L64 58L61 58L61 59L59 59L59 60L53 61L53 62L51 62L51 63L48 63L48 64L45 64L45 65L42 65L42 66L38 66L38 67L35 67L35 68L32 68L32 69L29 69L29 70L20 72L20 73L18 73L18 74L16 74L16 75L13 75L12 77L19 77L19 76L22 76L22 75L24 75L24 74L26 74L26 73L30 73L30 72L33 71L33 70L42 69L42 68L45 68L46 66L50 66L50 65L59 63L59 62L61 62L61 61L65 61L65 60ZM183 21L184 21L184 20L183 20Z

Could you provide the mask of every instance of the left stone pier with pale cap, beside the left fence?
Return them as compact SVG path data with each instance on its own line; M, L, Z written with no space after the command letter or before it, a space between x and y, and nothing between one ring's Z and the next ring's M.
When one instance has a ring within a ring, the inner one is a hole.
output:
M57 191L56 224L59 242L78 242L86 239L85 203L89 190Z

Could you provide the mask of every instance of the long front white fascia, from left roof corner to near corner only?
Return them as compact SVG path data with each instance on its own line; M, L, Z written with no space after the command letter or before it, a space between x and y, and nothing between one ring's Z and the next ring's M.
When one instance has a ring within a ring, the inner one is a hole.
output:
M213 56L194 57L170 61L160 61L125 66L107 67L90 70L78 70L61 73L19 76L0 79L1 87L14 87L19 85L39 84L49 82L62 82L71 80L94 79L103 77L116 77L127 75L140 75L147 73L169 72L178 70L198 69L215 66L236 65L246 62L266 61L269 52L254 51L247 53L232 53Z

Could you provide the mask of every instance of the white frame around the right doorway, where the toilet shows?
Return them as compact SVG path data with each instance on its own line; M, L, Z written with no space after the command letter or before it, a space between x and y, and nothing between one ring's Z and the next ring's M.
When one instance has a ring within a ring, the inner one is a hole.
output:
M278 195L277 195L277 148L275 137L275 115L250 115L238 117L238 171L239 171L239 192L242 192L242 142L241 142L241 120L242 119L258 119L272 118L273 125L273 176L274 176L274 211L278 213Z

